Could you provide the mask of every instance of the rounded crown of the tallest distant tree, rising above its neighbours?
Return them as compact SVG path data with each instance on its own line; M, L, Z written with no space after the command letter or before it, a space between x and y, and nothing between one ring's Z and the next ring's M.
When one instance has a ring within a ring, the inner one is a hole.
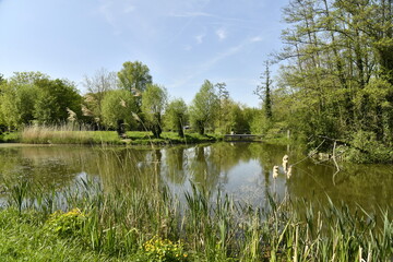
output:
M141 96L147 85L153 83L150 69L140 61L124 62L118 78L120 86L135 96Z

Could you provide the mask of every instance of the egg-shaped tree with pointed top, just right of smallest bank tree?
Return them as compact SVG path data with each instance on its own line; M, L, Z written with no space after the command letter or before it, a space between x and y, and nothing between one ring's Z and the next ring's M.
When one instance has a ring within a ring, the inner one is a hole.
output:
M192 126L200 134L204 134L206 127L213 126L218 107L219 100L215 87L209 80L205 80L190 107Z

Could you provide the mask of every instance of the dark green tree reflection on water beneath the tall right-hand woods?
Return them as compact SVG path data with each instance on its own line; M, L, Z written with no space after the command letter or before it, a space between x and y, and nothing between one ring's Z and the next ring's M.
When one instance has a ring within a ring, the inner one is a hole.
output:
M349 206L364 209L385 207L393 195L393 171L386 165L355 165L340 163L342 171L333 182L335 166L331 163L315 164L311 160L297 167L296 179L288 183L288 191L295 198L327 203L329 195L334 203L345 202ZM392 207L390 207L392 209Z

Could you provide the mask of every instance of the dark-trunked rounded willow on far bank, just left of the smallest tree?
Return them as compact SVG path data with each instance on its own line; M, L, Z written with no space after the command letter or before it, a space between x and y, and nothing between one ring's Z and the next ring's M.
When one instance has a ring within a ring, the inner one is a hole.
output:
M162 133L162 116L167 102L167 92L157 84L148 84L142 96L142 112L146 126L155 138Z

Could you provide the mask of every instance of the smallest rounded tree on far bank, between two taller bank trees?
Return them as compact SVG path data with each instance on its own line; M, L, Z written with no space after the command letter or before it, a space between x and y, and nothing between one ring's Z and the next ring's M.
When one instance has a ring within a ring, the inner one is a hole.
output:
M177 130L180 138L184 136L183 127L188 120L188 108L183 99L174 99L169 103L165 118L170 129Z

